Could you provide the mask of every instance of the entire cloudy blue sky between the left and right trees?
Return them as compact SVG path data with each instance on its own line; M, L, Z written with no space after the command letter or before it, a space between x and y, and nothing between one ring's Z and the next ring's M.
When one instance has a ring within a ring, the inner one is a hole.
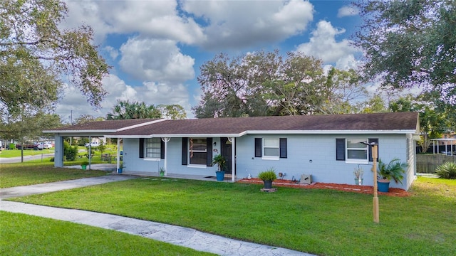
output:
M112 65L108 95L93 110L68 85L56 113L105 117L117 100L179 104L192 118L201 90L199 66L217 53L302 51L325 65L356 68L361 52L349 44L361 25L351 1L78 1L66 0L63 28L93 28L95 44Z

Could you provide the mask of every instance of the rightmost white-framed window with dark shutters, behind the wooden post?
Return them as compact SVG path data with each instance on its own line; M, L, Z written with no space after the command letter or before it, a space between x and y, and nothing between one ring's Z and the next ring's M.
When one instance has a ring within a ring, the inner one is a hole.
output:
M363 143L378 145L378 139L336 139L336 160L351 163L373 161L372 147Z

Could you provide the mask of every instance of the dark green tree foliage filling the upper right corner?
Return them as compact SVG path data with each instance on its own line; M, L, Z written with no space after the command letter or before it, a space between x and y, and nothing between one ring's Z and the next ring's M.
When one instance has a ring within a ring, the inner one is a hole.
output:
M366 78L383 86L421 86L456 106L456 1L356 1L364 23L355 45Z

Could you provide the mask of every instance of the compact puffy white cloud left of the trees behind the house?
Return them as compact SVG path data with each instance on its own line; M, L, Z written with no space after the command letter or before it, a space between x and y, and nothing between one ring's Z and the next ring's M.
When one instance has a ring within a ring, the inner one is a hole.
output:
M174 41L130 38L120 52L120 68L138 80L183 82L195 78L195 59L180 53Z

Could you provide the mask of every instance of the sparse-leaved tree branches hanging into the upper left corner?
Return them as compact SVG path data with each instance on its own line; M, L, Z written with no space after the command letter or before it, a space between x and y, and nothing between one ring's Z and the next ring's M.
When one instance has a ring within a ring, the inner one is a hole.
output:
M6 109L4 117L19 114L24 105L42 110L56 102L63 77L91 105L100 106L106 94L102 80L109 66L91 44L89 26L58 28L67 12L60 0L0 2L0 106Z

